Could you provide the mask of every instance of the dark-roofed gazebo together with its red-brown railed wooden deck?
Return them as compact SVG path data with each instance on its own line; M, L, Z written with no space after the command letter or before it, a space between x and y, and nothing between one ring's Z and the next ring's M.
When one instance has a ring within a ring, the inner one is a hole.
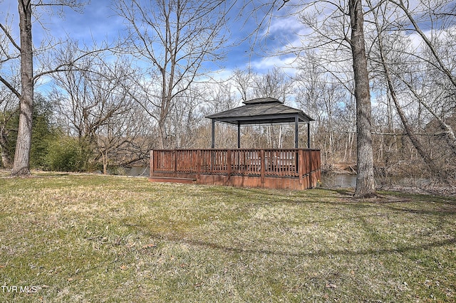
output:
M271 97L209 115L211 149L155 149L150 151L151 182L180 182L241 187L305 189L321 175L319 149L310 148L310 122L302 110ZM237 149L215 149L215 122L237 125ZM307 124L307 147L299 148L299 123ZM242 149L240 128L246 124L294 124L294 149Z

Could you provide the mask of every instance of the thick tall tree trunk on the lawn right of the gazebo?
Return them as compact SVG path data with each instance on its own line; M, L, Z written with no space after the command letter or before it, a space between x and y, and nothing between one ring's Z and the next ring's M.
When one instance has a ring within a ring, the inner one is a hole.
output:
M371 95L364 40L364 16L361 0L349 0L351 18L351 51L355 74L356 97L356 145L358 175L356 176L355 196L367 198L375 196L373 177L373 150L371 134Z

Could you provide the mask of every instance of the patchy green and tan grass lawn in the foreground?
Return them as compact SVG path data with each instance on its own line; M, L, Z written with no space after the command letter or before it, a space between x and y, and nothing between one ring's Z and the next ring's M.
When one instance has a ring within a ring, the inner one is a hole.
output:
M455 302L456 198L0 173L3 302Z

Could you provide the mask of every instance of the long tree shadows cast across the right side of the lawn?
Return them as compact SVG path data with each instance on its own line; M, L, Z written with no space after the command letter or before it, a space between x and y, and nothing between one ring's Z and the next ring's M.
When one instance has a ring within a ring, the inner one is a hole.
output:
M324 218L321 222L326 222L328 220L361 220L363 226L367 232L367 235L370 235L375 242L378 242L378 245L373 245L371 248L342 248L340 250L334 250L331 248L323 248L321 250L309 250L306 251L305 248L301 252L294 252L294 251L286 251L285 250L274 250L274 249L262 249L262 248L254 248L252 247L252 243L239 243L238 245L227 245L227 244L220 244L217 243L217 240L204 240L204 239L197 239L192 238L193 235L190 234L182 234L182 235L173 235L171 233L151 233L151 230L142 230L144 233L149 235L152 238L157 238L160 240L165 241L172 241L175 243L185 243L188 245L195 245L201 248L209 248L214 250L221 250L224 252L233 252L233 253L247 253L247 254L266 254L266 255L279 255L284 257L324 257L327 255L385 255L385 254L392 254L392 253L405 253L411 251L419 251L419 250L432 250L433 248L439 248L446 245L455 245L456 238L454 235L448 235L450 238L444 240L434 240L434 241L427 241L423 240L423 243L403 243L397 244L397 246L388 247L390 245L388 240L384 240L381 238L381 235L377 235L377 232L373 226L368 223L365 219L368 217L378 217L378 216L395 216L396 214L400 213L411 213L417 215L424 215L424 216L435 216L442 220L447 220L448 216L455 216L456 214L456 204L452 201L439 201L433 202L432 206L427 206L427 201L421 201L419 196L416 196L416 200L413 199L413 196L410 198L395 198L394 196L378 196L377 198L371 198L366 200L360 200L356 198L352 198L351 191L336 189L336 190L324 190L328 193L324 198L329 198L330 201L323 201L323 199L316 198L315 201L311 201L311 196L302 196L300 193L289 193L290 198L286 198L281 196L277 198L274 196L273 191L264 192L258 189L242 189L237 190L237 188L229 188L229 189L221 189L221 191L227 192L230 195L234 196L234 199L245 198L249 200L245 200L247 202L246 206L257 206L259 204L271 204L271 203L291 203L291 204L306 204L306 203L318 203L337 206L341 208L346 208L341 216L336 216L336 218ZM250 193L250 194L249 194ZM252 195L254 197L252 197ZM316 191L318 196L318 191ZM271 200L269 200L269 195ZM347 198L350 196L350 198ZM266 197L266 198L265 198ZM310 199L310 201L309 201ZM333 199L333 201L331 201ZM385 203L383 203L385 201ZM244 203L245 203L244 202ZM241 202L242 203L242 202ZM414 208L415 207L415 208ZM424 208L424 209L423 209ZM368 212L364 212L363 210L366 209ZM353 211L354 216L348 215ZM356 216L357 211L362 211L361 216ZM348 216L347 216L348 215ZM400 216L400 215L399 215ZM408 217L407 217L408 218ZM307 224L314 224L318 223L320 220L311 220L306 222ZM375 240L378 239L378 240ZM383 243L384 242L384 243ZM421 241L420 241L421 242ZM293 247L295 250L296 247Z

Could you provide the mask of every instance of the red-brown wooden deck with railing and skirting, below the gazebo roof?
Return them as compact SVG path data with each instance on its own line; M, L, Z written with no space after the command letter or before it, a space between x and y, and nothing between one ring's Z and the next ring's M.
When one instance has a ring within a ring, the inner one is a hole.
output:
M151 182L306 189L321 176L319 149L155 149Z

